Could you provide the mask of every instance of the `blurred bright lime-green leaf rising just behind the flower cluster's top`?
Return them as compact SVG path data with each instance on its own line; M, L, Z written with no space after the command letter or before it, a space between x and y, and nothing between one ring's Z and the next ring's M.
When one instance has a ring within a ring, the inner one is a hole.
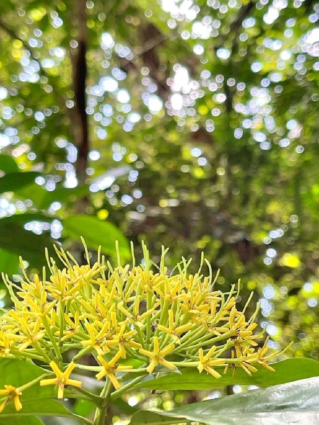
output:
M115 256L115 242L119 241L121 256L124 259L129 259L131 256L128 240L125 235L114 224L108 221L79 214L64 219L63 227L64 233L77 241L80 241L82 236L89 248L98 249L101 245L102 252Z

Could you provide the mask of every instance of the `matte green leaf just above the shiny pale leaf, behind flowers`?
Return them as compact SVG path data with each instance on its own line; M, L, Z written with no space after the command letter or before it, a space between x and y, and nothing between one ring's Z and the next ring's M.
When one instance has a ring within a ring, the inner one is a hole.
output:
M181 375L176 378L176 374L169 373L157 379L150 379L139 383L136 388L150 388L152 390L207 390L211 388L225 387L226 385L258 385L259 387L269 387L271 385L284 384L296 381L297 379L311 378L319 376L319 361L305 358L287 359L273 363L272 367L276 372L265 368L260 368L252 376L247 375L241 368L236 369L233 375L231 370L224 375L223 368L216 367L221 373L221 378L213 376L197 369L181 369Z

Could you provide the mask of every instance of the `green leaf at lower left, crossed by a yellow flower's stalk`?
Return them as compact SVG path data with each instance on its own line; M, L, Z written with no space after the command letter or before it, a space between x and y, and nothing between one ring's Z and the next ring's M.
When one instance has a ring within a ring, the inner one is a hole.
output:
M37 377L41 376L46 371L34 365L29 361L0 358L0 388L4 385L13 385L20 387ZM16 411L13 403L9 403L0 413L0 423L5 424L28 424L16 418L34 418L34 416L58 416L78 419L73 415L62 403L52 400L56 398L56 389L54 386L40 387L37 383L30 388L22 391L20 400L22 409ZM10 422L10 421L16 422ZM30 422L32 424L32 422ZM41 422L34 422L40 424ZM83 423L83 422L82 422Z

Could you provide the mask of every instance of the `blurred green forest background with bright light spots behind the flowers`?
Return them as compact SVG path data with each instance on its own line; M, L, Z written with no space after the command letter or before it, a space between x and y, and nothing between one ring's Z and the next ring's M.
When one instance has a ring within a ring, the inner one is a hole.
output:
M273 348L319 358L318 19L312 0L2 0L0 271L81 235L204 250Z

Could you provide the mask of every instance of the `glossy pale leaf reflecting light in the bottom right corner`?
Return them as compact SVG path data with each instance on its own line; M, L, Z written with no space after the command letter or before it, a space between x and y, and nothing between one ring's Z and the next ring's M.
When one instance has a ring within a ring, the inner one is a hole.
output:
M139 411L130 424L288 425L318 421L319 377L193 403L169 412Z

